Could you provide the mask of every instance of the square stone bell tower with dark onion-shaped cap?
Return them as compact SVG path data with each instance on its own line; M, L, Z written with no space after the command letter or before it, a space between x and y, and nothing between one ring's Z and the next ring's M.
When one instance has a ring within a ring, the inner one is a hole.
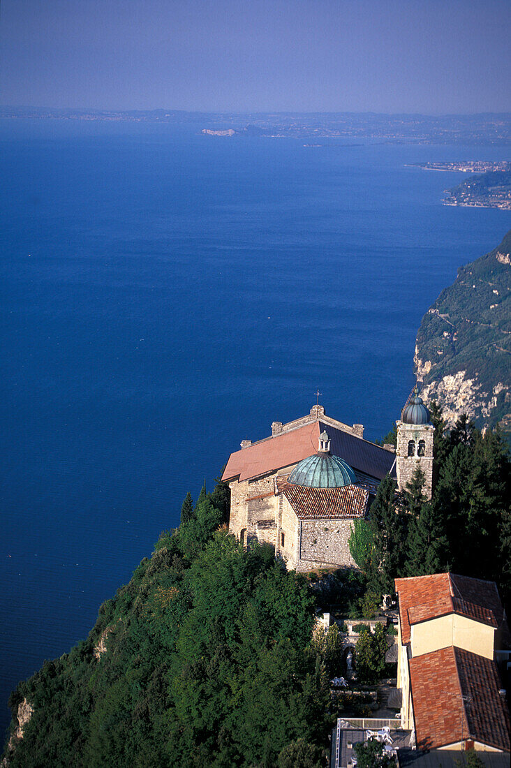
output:
M403 408L397 424L396 472L397 487L406 488L419 466L424 475L423 493L431 498L433 493L433 433L430 412L419 397L417 388Z

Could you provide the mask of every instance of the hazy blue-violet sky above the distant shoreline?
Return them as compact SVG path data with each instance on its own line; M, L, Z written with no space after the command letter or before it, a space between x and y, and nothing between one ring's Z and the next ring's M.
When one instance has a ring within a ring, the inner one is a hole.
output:
M1 0L2 104L511 111L509 0Z

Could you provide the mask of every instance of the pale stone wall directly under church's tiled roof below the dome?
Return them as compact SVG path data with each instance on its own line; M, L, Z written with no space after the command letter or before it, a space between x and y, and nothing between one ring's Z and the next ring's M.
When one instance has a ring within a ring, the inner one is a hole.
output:
M300 528L300 562L297 570L307 571L327 565L357 568L348 545L351 520L302 520Z

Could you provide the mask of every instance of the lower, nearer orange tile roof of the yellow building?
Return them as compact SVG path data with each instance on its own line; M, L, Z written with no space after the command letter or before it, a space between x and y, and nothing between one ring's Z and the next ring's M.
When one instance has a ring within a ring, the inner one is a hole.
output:
M509 710L492 660L450 646L409 664L418 746L470 739L509 751Z

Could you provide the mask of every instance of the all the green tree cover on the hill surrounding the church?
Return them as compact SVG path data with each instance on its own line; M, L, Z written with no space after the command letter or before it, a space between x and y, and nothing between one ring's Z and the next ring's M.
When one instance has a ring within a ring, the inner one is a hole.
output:
M226 485L195 505L187 495L180 527L101 606L87 640L13 692L2 765L325 766L335 717L367 713L360 697L330 696L343 627L314 633L316 607L370 618L397 576L445 570L496 580L509 607L509 447L465 417L446 430L431 409L433 499L420 474L401 493L384 478L350 541L360 571L287 571L270 545L244 550L228 534ZM379 631L357 643L360 683L389 675Z

